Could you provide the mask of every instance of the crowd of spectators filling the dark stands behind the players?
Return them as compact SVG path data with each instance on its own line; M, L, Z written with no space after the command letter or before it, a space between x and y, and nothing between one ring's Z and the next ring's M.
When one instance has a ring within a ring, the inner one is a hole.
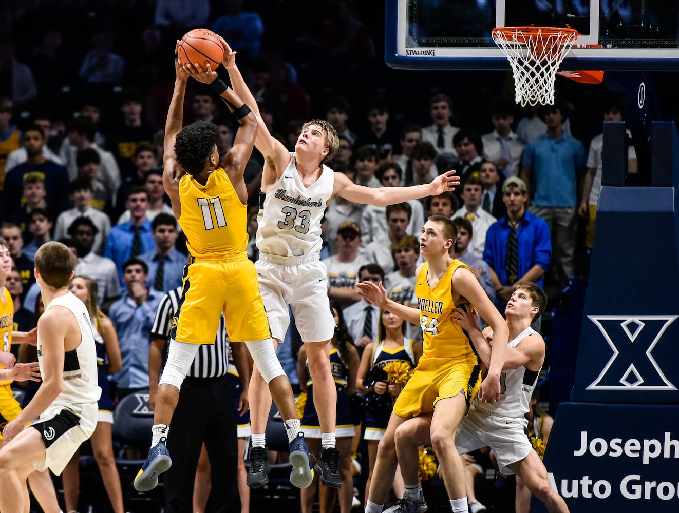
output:
M336 318L346 322L342 335L359 354L376 343L397 347L397 332L421 340L419 326L390 327L354 286L382 281L392 299L415 306L418 237L430 214L454 220L454 256L469 265L500 312L517 281L557 295L594 243L602 140L590 138L601 132L602 119L623 119L619 100L602 100L594 121L577 132L569 102L521 113L497 80L482 84L483 98L469 98L455 94L457 86L425 83L420 73L406 88L419 87L419 94L404 95L382 69L382 19L370 7L352 0L301 7L274 0L5 3L0 219L14 261L7 280L14 323L18 330L33 328L41 308L33 276L37 248L50 240L67 244L77 257L75 275L96 284L90 292L117 333L120 362L109 367L114 401L149 387L156 309L181 286L187 261L185 237L162 186L162 129L172 94L172 49L189 29L213 29L238 52L264 121L291 150L313 116L327 119L339 134L329 166L355 183L417 185L457 170L462 183L454 193L386 208L335 198L327 209L321 258L328 293ZM382 70L387 87L369 81L373 68ZM185 121L213 121L223 156L237 124L213 92L194 81L187 98ZM255 151L245 172L253 260L262 166ZM628 172L635 171L631 148ZM378 341L381 324L390 327L388 343ZM295 348L286 370L291 379L298 371L301 377L304 365L298 368L294 352L299 344L284 346ZM374 364L368 360L366 368ZM375 382L370 387L380 389ZM367 446L374 451L373 440ZM369 472L369 455L362 457ZM479 463L468 463L478 470ZM349 460L343 465L348 472ZM524 491L521 497L525 504ZM115 508L119 499L112 495Z

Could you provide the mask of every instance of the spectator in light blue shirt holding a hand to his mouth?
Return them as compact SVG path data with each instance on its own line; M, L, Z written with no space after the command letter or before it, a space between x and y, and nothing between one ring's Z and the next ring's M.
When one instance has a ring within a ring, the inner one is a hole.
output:
M123 266L126 294L109 309L109 317L117 330L123 367L115 375L117 396L149 387L149 344L155 309L162 292L146 286L149 269L141 259L132 258Z

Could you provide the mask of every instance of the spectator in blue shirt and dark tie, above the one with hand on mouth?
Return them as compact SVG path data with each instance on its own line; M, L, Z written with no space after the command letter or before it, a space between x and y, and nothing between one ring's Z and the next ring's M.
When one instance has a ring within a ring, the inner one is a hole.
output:
M118 278L123 280L123 263L130 257L153 251L155 240L151 233L153 227L146 216L149 206L149 191L143 185L130 187L125 207L130 210L130 221L111 228L106 238L104 256L111 259L118 268Z

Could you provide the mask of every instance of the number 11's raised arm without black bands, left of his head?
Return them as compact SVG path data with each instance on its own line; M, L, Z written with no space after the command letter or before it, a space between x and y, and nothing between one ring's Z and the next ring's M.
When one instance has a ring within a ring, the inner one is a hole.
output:
M179 45L179 41L177 41L177 44ZM175 55L176 54L177 47L175 47ZM179 162L177 162L175 140L177 140L177 134L181 132L183 125L184 94L186 92L186 81L189 79L189 74L176 57L175 75L177 77L175 79L175 90L172 92L168 117L165 121L165 140L163 143L163 187L170 197L175 217L179 219L181 217L179 178L185 174L185 171L179 166Z

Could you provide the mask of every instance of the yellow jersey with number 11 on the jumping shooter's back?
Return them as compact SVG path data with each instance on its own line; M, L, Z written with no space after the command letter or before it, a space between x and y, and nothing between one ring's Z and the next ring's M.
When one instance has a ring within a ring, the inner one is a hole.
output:
M179 179L181 216L186 246L194 257L219 257L245 252L247 206L222 168L202 185L190 174Z

